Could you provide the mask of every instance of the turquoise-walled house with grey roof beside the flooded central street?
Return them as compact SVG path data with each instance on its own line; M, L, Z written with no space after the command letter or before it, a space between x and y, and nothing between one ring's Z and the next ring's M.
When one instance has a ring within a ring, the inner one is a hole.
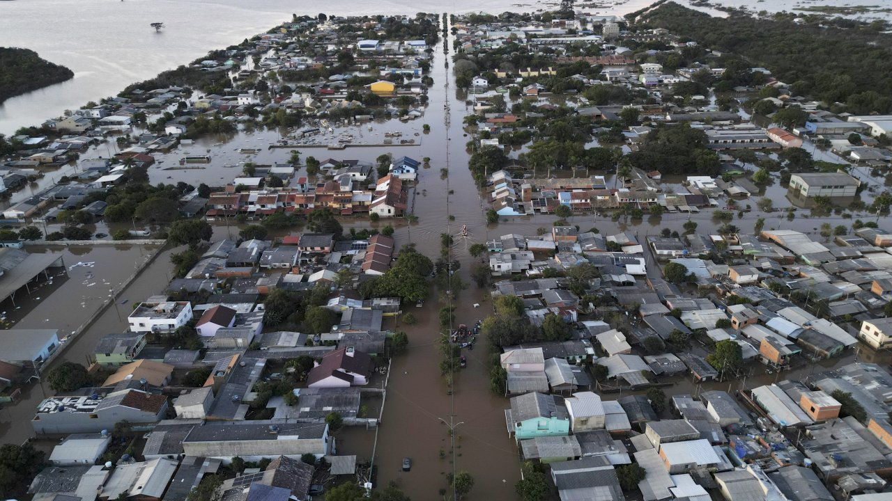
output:
M570 415L564 398L544 393L527 393L511 398L505 410L508 434L517 440L536 437L564 437L570 434Z

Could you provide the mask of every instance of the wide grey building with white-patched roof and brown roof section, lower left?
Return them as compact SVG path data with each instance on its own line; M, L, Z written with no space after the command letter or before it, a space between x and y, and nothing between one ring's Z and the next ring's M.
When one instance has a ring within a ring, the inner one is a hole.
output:
M167 397L141 390L120 390L106 396L45 398L31 426L37 435L111 430L127 420L136 429L158 423L167 412Z

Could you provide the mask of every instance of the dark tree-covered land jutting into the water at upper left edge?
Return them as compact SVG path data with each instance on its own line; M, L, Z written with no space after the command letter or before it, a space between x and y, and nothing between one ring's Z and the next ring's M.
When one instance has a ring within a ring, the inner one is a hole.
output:
M73 71L40 59L32 50L0 47L0 103L70 78L74 78Z

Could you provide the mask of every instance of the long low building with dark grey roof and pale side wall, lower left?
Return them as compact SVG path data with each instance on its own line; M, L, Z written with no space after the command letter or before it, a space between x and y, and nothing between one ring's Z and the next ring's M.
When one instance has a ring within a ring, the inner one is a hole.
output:
M329 453L330 442L326 423L205 421L183 439L183 452L186 456L215 457L223 464L230 464L235 456L245 461L305 454L320 458Z

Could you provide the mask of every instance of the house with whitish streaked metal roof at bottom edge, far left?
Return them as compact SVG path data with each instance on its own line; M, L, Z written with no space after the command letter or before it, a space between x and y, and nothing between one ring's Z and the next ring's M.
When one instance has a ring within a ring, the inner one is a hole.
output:
M118 464L99 492L99 499L138 499L160 501L179 462L158 458L151 461Z

